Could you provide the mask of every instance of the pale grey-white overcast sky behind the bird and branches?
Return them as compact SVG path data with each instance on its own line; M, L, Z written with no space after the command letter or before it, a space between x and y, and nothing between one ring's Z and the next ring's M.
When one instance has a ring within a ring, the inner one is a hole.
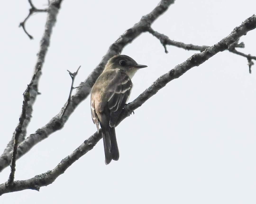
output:
M44 126L67 100L71 79L66 71L81 69L75 86L98 65L108 47L148 14L160 0L63 1L42 69L28 135ZM47 1L34 1L46 8ZM2 3L1 139L9 142L18 123L23 92L31 80L46 14L35 14L26 28L27 1ZM171 40L214 45L255 13L256 1L176 0L152 28ZM256 30L242 36L246 54L256 55ZM193 55L177 47L164 53L159 40L140 35L122 54L148 67L133 78L129 101L159 76ZM255 61L254 61L255 62ZM40 192L4 194L1 203L255 203L256 202L256 65L218 53L175 79L117 128L119 161L104 163L102 140ZM17 161L15 180L53 169L96 131L90 100L84 100L65 127L37 144ZM0 173L8 179L10 168Z

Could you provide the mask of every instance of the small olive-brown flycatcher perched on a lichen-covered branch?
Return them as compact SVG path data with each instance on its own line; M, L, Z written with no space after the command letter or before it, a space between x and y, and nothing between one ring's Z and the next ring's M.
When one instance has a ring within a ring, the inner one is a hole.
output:
M137 70L147 67L127 55L115 55L108 60L91 90L91 116L99 133L102 130L105 164L119 159L115 123L128 101Z

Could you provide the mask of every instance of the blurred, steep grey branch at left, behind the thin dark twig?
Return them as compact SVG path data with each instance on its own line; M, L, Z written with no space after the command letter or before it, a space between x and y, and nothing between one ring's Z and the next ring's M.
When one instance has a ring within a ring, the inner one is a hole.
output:
M48 9L47 9L47 20L45 24L45 31L42 36L41 42L40 42L40 48L39 52L37 54L37 62L35 65L35 70L34 73L38 68L42 69L42 65L45 61L45 56L50 44L50 37L52 33L52 28L56 22L56 17L59 11L59 3L60 0L55 0L51 1ZM31 89L29 92L30 100L28 101L27 107L26 107L26 114L25 114L25 119L22 125L22 132L20 133L19 139L18 139L18 144L23 142L26 136L26 130L27 126L30 122L31 115L32 115L32 107L35 103L36 97L39 94L38 93L38 83L39 79L41 76L41 70L37 73L33 84L31 85ZM11 158L12 158L12 149L13 149L13 143L14 143L14 135L15 132L13 133L13 137L11 141L7 144L6 149L4 150L4 153L0 156L0 171L3 169L3 167L6 167L10 164ZM18 155L17 158L19 157L19 148L18 148Z

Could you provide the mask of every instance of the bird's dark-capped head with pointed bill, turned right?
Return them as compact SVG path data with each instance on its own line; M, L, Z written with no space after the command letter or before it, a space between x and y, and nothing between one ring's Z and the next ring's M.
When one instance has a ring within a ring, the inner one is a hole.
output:
M138 69L147 67L146 65L139 65L134 59L127 55L116 55L109 59L106 64L105 70L109 69L121 69L130 78L133 77Z

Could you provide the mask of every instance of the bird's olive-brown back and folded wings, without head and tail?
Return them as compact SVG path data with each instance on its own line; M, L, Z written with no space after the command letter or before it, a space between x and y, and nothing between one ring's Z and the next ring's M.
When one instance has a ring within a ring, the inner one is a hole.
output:
M114 127L130 96L132 85L129 76L119 69L105 71L96 80L91 93L91 116L98 131L101 113L108 116L110 127Z

